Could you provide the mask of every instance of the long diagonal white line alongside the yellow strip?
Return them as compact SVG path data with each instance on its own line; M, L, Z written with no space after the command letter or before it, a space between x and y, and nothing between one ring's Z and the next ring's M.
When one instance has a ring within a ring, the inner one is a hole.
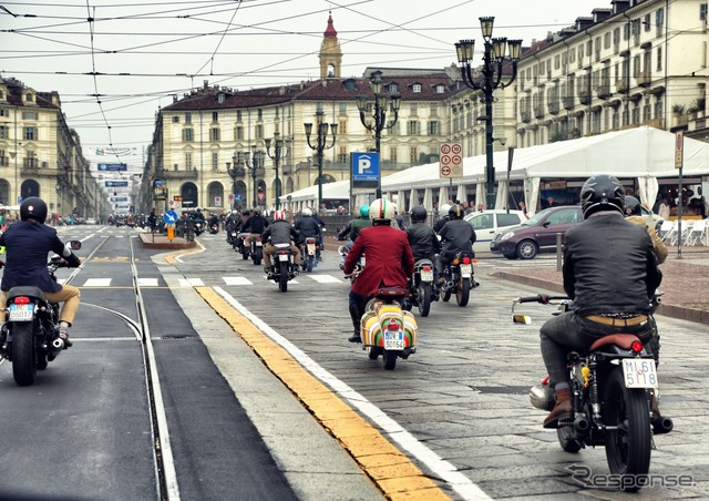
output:
M248 318L256 327L258 327L266 336L271 338L274 342L290 354L312 376L320 379L325 385L329 386L340 398L347 400L350 406L357 408L361 413L367 416L371 422L376 422L389 437L397 442L403 450L417 458L421 463L425 464L434 474L443 479L451 488L465 500L492 500L485 492L477 487L475 482L470 480L463 473L458 471L453 464L441 458L439 454L429 449L424 443L420 442L413 434L407 431L401 425L391 419L381 409L367 400L362 395L354 391L343 381L340 381L330 372L325 370L318 364L308 357L300 348L290 342L288 339L278 334L268 324L249 311L244 305L237 301L228 293L220 287L214 287L214 290L220 295L234 309Z

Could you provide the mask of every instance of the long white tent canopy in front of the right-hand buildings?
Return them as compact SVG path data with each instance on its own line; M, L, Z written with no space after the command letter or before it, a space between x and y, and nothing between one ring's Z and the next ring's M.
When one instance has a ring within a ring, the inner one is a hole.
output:
M506 151L494 153L495 177L505 182ZM485 182L485 155L463 159L463 177L458 184L481 185ZM685 137L684 175L709 174L709 144ZM515 150L510 172L512 181L524 181L527 207L537 206L542 178L586 180L593 174L613 174L616 177L637 177L641 202L653 205L658 192L658 177L676 177L675 134L641 126L625 131L582 137L578 140ZM439 176L438 163L418 165L382 178L383 192L399 190L436 188L448 180ZM506 190L506 186L502 186ZM500 190L502 193L502 190ZM503 198L504 200L504 198ZM484 202L480 198L477 202Z

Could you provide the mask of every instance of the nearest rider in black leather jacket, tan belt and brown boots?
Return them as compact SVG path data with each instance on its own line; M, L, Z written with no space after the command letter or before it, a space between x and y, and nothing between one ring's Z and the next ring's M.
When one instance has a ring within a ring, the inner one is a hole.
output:
M547 320L541 329L542 358L556 392L556 405L544 428L573 420L567 354L584 351L612 334L634 334L643 342L654 335L649 298L662 275L648 233L623 217L624 188L610 175L589 177L580 191L584 221L566 233L564 290L571 311ZM659 409L655 402L659 418Z

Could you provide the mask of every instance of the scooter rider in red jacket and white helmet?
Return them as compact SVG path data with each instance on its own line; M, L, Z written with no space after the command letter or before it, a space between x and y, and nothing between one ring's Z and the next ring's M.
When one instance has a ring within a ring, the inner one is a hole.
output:
M354 326L350 342L362 342L360 319L367 300L382 286L407 287L413 273L413 254L407 234L391 226L394 206L391 202L378 198L369 206L371 227L361 229L359 237L345 260L345 275L351 275L354 264L367 253L367 266L352 283L349 295L349 309Z

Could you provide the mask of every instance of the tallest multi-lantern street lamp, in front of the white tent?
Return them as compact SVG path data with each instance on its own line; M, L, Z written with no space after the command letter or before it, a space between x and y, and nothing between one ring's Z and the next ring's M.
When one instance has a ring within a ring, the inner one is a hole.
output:
M486 202L487 208L495 207L495 167L492 163L492 145L494 142L492 132L492 103L494 98L492 93L496 89L504 89L514 82L517 76L517 61L522 53L522 40L507 40L506 38L492 38L492 28L495 18L480 18L480 27L482 29L483 40L485 41L485 52L483 53L483 81L473 80L473 70L471 61L475 49L474 40L461 40L455 44L458 61L460 62L461 75L463 82L470 89L482 91L485 100L485 115L477 120L485 122L485 184L486 184ZM512 62L512 75L507 82L502 80L502 69L505 61L505 52L510 49L510 61Z

